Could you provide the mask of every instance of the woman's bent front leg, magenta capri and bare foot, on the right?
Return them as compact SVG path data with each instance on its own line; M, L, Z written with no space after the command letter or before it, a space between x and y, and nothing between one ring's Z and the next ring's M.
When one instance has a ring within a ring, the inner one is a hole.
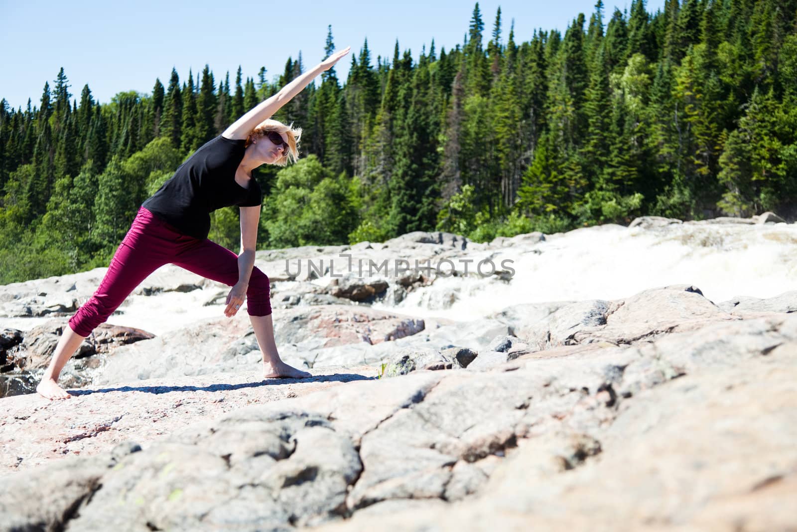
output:
M190 250L179 254L173 263L227 286L238 282L238 255L210 240L198 242ZM249 277L249 288L246 290L247 311L257 345L263 353L265 378L299 379L311 376L310 373L293 368L281 360L277 342L274 341L269 293L269 278L258 268L253 268Z

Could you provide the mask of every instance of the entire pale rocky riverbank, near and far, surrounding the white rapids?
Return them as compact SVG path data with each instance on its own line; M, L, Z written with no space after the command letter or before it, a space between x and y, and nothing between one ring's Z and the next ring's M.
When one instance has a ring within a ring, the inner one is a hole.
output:
M779 226L719 223L797 243ZM678 227L697 250L726 245L709 225L574 233ZM455 259L462 246L496 260L516 246L532 267L561 238L421 233L258 252L276 283L280 352L314 376L263 381L241 313L115 347L69 400L6 397L0 530L797 529L797 293L715 304L671 284L420 320L410 305L363 303L414 304L442 286L467 301L468 286L507 281L473 265L450 278L391 265L382 290L284 271L308 254L409 262ZM80 279L3 287L0 302L46 306L38 294L80 292ZM148 290L135 298L225 292L187 276ZM0 349L30 333L12 328Z

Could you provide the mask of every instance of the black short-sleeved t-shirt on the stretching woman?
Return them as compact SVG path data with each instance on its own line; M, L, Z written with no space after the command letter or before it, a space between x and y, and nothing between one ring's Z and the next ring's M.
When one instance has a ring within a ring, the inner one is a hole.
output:
M263 195L256 179L249 188L235 182L245 140L217 136L199 148L143 207L184 234L207 238L210 213L222 207L254 207Z

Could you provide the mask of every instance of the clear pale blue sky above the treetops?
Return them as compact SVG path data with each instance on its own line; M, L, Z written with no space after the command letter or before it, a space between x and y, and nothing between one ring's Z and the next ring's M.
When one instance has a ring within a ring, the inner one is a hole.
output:
M269 80L282 72L289 56L301 50L305 67L324 56L327 26L338 49L351 45L355 53L368 39L371 57L393 57L400 48L418 57L434 37L439 49L462 42L475 2L225 2L194 0L137 0L128 2L42 2L0 0L2 28L0 97L11 106L37 105L45 81L53 85L64 67L73 97L88 83L96 100L104 103L126 90L150 93L155 78L167 85L174 66L180 80L205 64L218 81L238 65L244 77L256 77L261 66ZM605 0L607 14L614 6L630 7L630 0ZM485 33L493 28L501 6L503 38L512 18L516 41L527 41L536 28L564 30L579 13L594 10L595 0L511 0L479 2ZM647 9L662 9L664 0L648 0ZM229 6L229 5L227 5ZM345 65L338 69L343 77Z

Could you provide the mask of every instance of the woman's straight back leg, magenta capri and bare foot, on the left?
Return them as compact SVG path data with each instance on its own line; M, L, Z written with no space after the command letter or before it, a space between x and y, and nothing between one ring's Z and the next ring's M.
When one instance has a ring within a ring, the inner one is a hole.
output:
M151 215L150 215L151 216ZM136 286L171 260L168 234L161 234L159 227L147 225L147 219L139 212L133 225L113 255L105 277L94 295L77 310L64 328L45 374L36 391L48 399L71 397L58 386L58 376L69 358L97 325L108 319L114 310Z

